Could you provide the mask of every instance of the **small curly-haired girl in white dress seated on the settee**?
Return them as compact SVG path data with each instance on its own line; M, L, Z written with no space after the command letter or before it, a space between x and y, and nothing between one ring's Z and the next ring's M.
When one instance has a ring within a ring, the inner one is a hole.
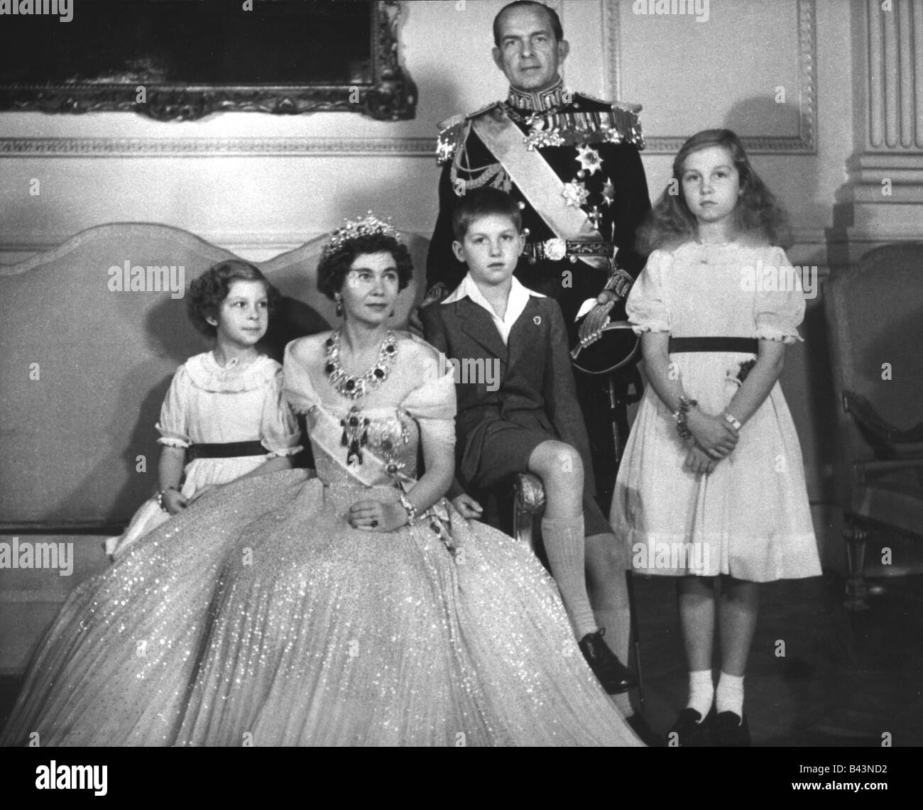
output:
M257 268L238 259L190 284L189 318L215 348L176 370L157 423L160 492L121 537L106 541L113 559L214 487L287 469L288 457L301 449L297 423L282 402L282 366L256 349L278 297Z

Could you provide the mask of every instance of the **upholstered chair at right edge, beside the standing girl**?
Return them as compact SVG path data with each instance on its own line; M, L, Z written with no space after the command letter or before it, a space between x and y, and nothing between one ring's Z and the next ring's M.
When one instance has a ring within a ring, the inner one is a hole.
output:
M885 245L836 270L824 305L839 402L846 606L864 610L869 539L923 540L923 243Z

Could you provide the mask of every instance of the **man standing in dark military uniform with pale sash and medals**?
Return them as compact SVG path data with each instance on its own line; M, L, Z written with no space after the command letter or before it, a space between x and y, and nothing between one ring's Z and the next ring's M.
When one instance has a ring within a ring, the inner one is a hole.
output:
M509 97L439 125L439 214L422 305L440 301L466 272L452 252L456 201L466 191L492 185L509 192L521 208L528 242L516 277L557 299L572 346L580 339L589 342L599 338L644 264L634 249L635 229L651 208L638 153L641 108L563 86L558 68L569 44L557 14L541 3L504 6L494 20L494 42L494 61L509 79ZM616 463L605 378L578 374L576 382L595 478L607 490L601 503L607 512ZM590 555L605 553L599 542L604 537L612 535L587 538L588 570ZM611 632L605 641L622 661L629 645L625 587L624 578L597 582L590 593L594 613ZM636 731L650 739L641 716L632 715L628 696L616 699Z

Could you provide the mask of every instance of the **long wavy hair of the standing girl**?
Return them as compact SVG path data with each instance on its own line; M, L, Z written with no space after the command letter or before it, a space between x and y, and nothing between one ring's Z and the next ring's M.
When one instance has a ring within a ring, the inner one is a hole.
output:
M646 255L658 247L695 238L698 223L681 191L683 171L689 155L709 147L727 149L737 169L741 190L734 209L737 232L782 247L790 244L791 232L785 210L750 164L740 139L729 129L704 129L690 137L677 152L673 179L638 229L639 252Z

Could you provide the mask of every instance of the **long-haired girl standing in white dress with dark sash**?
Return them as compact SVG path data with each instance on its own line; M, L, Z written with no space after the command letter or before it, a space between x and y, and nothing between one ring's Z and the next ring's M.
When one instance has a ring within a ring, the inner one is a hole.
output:
M690 137L673 177L642 231L653 253L627 304L649 385L610 519L636 569L678 578L689 702L668 742L747 745L743 680L758 583L821 574L778 383L805 304L773 246L785 215L734 133Z

